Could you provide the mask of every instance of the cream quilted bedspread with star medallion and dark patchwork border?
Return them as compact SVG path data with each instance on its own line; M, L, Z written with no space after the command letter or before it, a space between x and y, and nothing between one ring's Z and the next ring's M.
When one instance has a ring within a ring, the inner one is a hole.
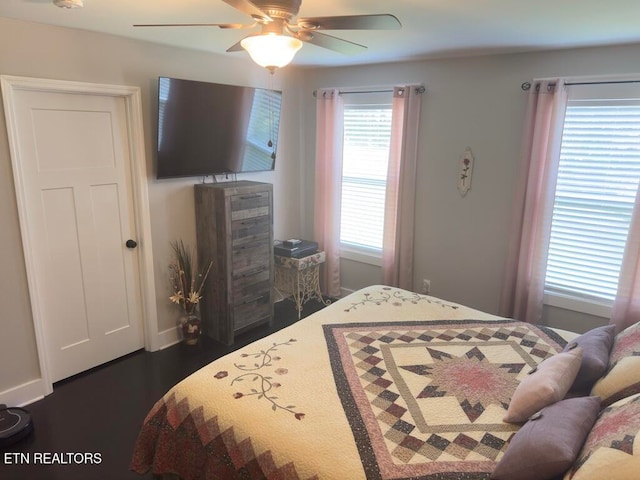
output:
M131 468L190 479L488 479L520 380L576 335L373 286L222 357L149 412Z

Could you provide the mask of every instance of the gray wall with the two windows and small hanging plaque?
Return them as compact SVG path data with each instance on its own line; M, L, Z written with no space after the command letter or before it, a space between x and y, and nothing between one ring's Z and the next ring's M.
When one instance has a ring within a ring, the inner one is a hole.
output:
M304 70L305 190L313 191L313 90L422 83L414 289L428 278L432 295L497 313L526 107L520 85L540 77L640 73L639 65L640 46L633 45ZM461 197L458 160L466 147L475 166L472 189ZM311 202L305 219L312 218ZM306 221L307 236L312 228ZM342 271L347 289L380 277L378 267L356 270L351 261ZM580 331L607 320L545 308L544 322Z

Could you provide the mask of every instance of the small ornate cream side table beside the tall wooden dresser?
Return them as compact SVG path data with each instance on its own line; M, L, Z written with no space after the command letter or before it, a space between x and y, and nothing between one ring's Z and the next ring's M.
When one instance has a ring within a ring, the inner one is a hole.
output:
M302 316L302 307L315 298L325 305L331 303L322 298L320 292L319 267L325 260L324 252L307 257L289 258L275 255L275 285L282 293L293 296L298 310L298 320Z

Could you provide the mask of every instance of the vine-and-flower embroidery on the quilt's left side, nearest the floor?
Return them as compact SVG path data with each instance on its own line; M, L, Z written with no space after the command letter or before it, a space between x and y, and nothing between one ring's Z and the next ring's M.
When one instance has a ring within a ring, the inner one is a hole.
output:
M237 375L231 380L231 385L245 382L247 385L243 390L233 394L233 398L239 400L241 398L256 397L258 400L267 400L271 404L271 410L274 412L278 410L284 410L293 414L297 420L302 420L305 416L302 412L296 412L295 405L287 405L281 403L277 395L272 390L278 389L282 386L279 381L276 381L273 375L283 376L289 373L289 370L284 367L277 367L273 371L269 370L270 367L274 367L273 363L281 360L281 357L274 355L278 351L279 347L291 345L296 341L295 338L291 338L283 343L273 343L273 345L266 349L260 350L255 353L242 353L240 357L253 359L253 364L234 363L234 366L241 372L245 372ZM229 376L229 372L226 370L219 371L214 375L214 378L222 380Z

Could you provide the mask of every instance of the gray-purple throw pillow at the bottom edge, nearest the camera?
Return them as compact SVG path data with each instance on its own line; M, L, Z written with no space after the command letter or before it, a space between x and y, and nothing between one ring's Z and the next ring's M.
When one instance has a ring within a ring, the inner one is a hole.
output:
M518 430L491 474L492 480L548 480L566 472L598 418L599 397L561 400Z

